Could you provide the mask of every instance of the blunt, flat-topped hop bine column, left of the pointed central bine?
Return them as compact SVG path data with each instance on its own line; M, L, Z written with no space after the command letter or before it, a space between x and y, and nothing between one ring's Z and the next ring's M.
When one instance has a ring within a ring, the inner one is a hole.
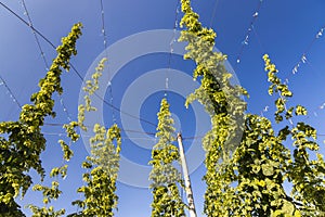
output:
M83 216L114 216L113 209L118 200L115 191L121 144L120 129L113 125L106 131L104 127L95 125L94 132L95 136L90 139L92 155L82 165L83 168L92 169L83 174L87 186L78 189L84 200L73 204L82 208Z

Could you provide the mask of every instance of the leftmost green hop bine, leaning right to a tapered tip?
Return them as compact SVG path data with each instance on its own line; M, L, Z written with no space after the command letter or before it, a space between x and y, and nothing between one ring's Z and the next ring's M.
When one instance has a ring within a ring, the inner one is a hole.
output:
M57 47L57 56L39 82L40 90L30 98L32 104L22 107L17 122L0 123L0 133L6 133L8 139L0 137L0 207L2 215L23 216L14 197L22 191L22 196L31 184L27 174L34 168L41 178L44 177L40 154L46 149L46 138L41 133L47 116L55 116L53 112L54 92L62 93L62 69L69 69L69 59L77 54L76 41L81 35L81 24L76 24L69 35L62 39Z

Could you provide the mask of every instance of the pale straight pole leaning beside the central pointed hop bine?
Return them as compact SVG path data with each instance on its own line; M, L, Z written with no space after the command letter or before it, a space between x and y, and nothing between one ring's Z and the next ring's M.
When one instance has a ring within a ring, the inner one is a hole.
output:
M191 180L190 180L190 175L188 175L188 169L187 169L187 164L186 164L186 158L185 158L181 133L178 133L178 142L179 142L180 157L181 157L182 169L183 169L184 181L185 181L185 192L186 192L186 197L187 197L187 203L188 203L190 217L196 217L193 191L192 191L192 187L191 187Z

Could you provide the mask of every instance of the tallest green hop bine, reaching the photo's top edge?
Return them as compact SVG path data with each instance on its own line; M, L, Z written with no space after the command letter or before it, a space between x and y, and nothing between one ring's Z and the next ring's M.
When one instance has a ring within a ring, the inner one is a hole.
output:
M230 213L222 212L222 207L232 209L230 200L234 190L231 183L235 177L229 161L242 139L246 104L240 97L247 95L247 92L244 88L230 84L232 75L223 64L226 56L212 51L216 33L202 26L190 0L181 2L184 12L181 26L185 29L179 40L188 42L184 59L196 63L193 77L200 80L200 87L188 95L186 105L197 100L211 117L211 130L203 139L207 168L204 177L207 183L205 213L208 216L227 216Z

